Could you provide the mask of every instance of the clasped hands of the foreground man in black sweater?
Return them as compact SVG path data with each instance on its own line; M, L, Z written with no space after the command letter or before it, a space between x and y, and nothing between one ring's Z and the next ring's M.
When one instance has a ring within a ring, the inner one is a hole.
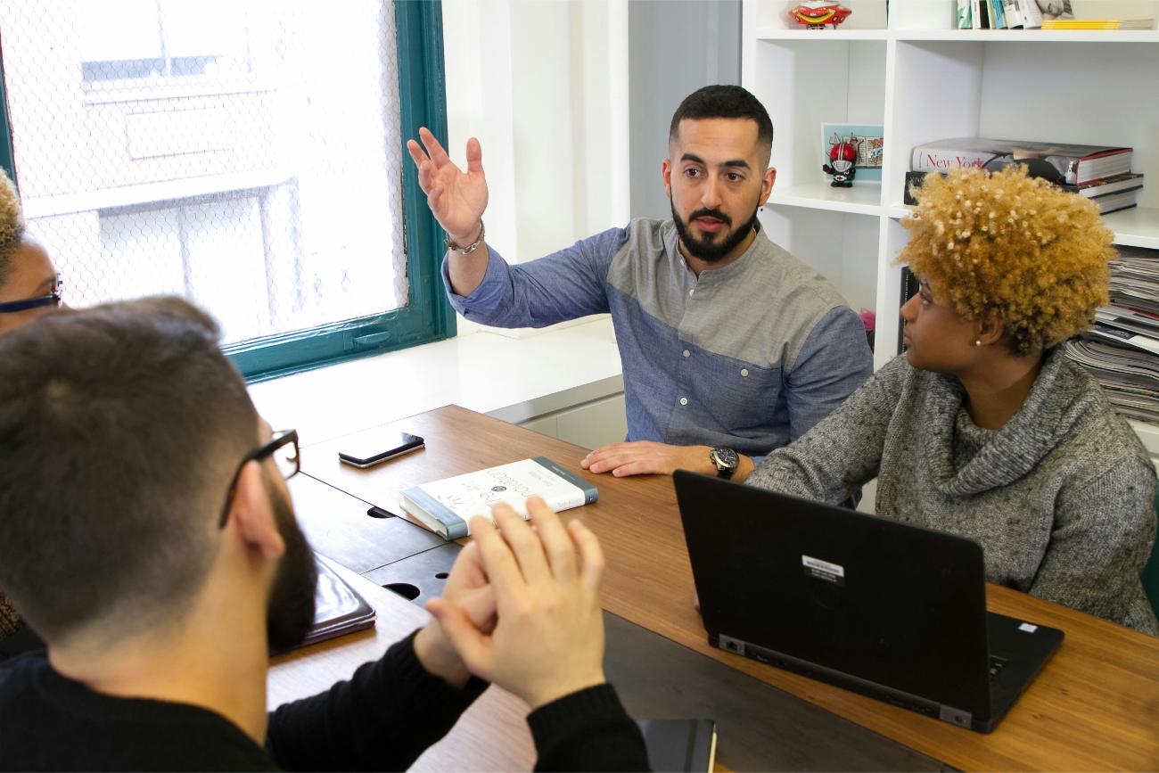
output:
M428 672L454 686L475 674L539 708L603 684L604 554L582 523L567 527L539 497L526 524L506 504L471 519L473 540L415 637Z

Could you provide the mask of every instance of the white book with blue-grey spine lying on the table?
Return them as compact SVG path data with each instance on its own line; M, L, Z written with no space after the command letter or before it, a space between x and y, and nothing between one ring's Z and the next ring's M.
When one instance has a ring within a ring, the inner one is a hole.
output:
M474 516L491 517L491 505L506 502L527 518L527 497L540 496L559 512L591 504L596 487L546 457L522 459L466 475L413 486L402 491L402 508L444 539L471 533Z

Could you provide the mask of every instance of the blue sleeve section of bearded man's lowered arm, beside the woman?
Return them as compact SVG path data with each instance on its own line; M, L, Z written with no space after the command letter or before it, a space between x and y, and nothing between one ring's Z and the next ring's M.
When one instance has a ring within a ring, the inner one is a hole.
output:
M789 442L845 402L873 374L873 353L861 318L852 308L830 309L806 338L786 379Z

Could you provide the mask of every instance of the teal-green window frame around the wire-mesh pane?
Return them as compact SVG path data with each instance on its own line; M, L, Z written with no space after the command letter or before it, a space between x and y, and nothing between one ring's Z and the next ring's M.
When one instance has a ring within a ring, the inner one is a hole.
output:
M395 0L402 137L427 126L446 144L446 81L443 63L443 5L439 0ZM2 30L0 30L2 34ZM2 41L0 41L2 44ZM455 316L443 291L439 265L443 232L427 207L413 163L402 156L408 304L403 308L225 347L250 384L406 349L455 334ZM0 49L0 165L15 178L12 123Z

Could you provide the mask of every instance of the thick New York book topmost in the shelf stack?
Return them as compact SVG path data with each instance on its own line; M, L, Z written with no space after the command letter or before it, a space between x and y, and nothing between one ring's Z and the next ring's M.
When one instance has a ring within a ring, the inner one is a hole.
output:
M949 172L958 167L982 167L996 172L1011 163L1045 162L1054 168L1058 182L1065 185L1127 174L1131 170L1131 148L1070 143L957 137L913 148L910 168L913 172ZM1038 173L1038 176L1045 174Z

